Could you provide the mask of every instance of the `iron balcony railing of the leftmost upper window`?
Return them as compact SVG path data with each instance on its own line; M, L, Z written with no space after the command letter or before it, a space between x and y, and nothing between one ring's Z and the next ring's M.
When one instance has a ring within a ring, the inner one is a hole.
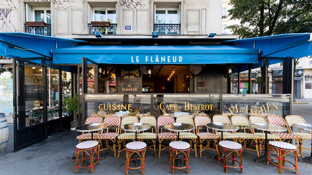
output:
M24 23L25 33L51 36L51 24L43 21L28 21Z

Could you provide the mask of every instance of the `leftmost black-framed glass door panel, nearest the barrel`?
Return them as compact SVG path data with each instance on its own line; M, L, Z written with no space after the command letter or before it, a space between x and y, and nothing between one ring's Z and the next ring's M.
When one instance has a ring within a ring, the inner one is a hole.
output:
M14 150L47 138L45 67L13 59Z

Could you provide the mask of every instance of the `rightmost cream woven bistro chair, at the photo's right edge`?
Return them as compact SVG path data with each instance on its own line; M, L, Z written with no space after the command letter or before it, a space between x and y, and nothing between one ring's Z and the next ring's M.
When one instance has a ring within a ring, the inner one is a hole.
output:
M305 123L305 120L299 116L299 115L287 115L285 116L285 121L286 121L286 124L287 124L287 130L290 134L293 134L293 135L296 135L298 136L299 138L299 151L300 151L300 154L301 154L301 157L303 157L303 149L305 150L310 150L309 148L304 148L302 143L305 139L311 139L311 132L308 131L308 133L304 133L301 131L301 129L299 130L299 132L293 132L292 130L292 125L293 124L306 124Z

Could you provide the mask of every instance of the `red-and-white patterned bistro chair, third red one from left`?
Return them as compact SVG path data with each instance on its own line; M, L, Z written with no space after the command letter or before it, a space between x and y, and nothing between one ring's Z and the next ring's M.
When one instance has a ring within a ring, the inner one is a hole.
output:
M170 139L171 141L175 141L177 138L177 135L175 133L172 133L170 131L166 131L163 129L163 126L166 124L174 123L173 116L171 115L160 115L157 119L157 135L158 135L158 142L159 142L159 152L158 156L160 157L161 151L168 149L166 145L162 144L162 141L165 139Z

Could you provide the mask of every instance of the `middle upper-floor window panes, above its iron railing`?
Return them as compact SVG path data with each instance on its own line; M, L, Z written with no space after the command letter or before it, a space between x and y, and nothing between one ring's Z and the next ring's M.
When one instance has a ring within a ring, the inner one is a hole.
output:
M117 23L116 10L94 9L94 21Z

